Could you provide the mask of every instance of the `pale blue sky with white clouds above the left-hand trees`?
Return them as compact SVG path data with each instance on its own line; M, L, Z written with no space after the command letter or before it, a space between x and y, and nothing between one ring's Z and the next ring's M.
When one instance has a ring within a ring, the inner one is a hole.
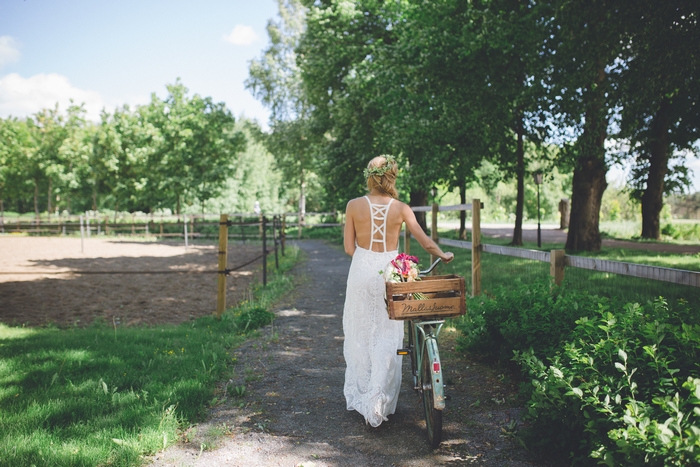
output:
M0 117L73 99L98 121L180 78L266 128L244 81L277 12L276 0L0 0Z

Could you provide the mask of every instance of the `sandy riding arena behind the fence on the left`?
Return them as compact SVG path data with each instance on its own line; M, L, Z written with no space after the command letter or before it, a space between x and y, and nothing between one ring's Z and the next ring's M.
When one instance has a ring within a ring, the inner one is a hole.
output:
M184 241L67 237L0 237L0 322L87 326L181 323L216 310L217 274L134 274L213 271L218 246ZM262 253L259 244L230 244L228 267ZM261 260L227 279L227 304L243 299L261 274ZM115 272L127 274L115 274ZM82 274L81 274L82 272ZM106 272L98 273L95 272Z

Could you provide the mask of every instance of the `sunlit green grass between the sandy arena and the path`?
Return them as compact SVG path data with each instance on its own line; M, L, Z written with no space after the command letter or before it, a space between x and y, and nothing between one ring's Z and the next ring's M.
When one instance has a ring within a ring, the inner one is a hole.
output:
M292 288L288 248L268 286L221 320L179 326L12 328L0 325L0 466L132 466L171 444L216 404L229 351Z

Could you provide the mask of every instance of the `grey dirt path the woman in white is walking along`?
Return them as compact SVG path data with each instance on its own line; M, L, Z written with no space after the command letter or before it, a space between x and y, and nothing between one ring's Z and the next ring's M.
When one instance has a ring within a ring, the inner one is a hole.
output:
M343 397L342 308L349 258L320 241L299 246L298 288L274 326L236 349L228 397L152 466L536 466L512 437L518 419L507 378L454 352L441 336L448 401L443 444L429 448L408 359L396 414L378 428L348 412ZM242 398L231 396L245 386ZM224 393L222 385L221 395Z

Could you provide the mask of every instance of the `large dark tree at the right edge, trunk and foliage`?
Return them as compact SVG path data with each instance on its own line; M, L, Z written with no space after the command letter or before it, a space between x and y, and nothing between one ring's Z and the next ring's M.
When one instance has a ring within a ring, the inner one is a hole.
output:
M664 194L689 185L682 157L669 167L673 152L691 150L700 137L700 5L693 1L635 2L625 11L629 38L619 62L619 137L633 154L630 183L642 205L643 238L661 237Z

